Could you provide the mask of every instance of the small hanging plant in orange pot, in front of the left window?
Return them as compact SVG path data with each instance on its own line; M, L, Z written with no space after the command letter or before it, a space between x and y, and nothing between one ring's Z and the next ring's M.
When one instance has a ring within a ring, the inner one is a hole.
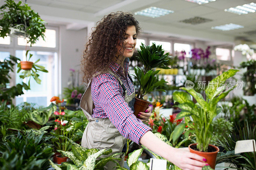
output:
M20 70L24 70L22 72L22 74L20 75L20 78L24 79L26 77L29 77L29 80L28 80L28 87L30 87L30 78L34 78L34 80L36 81L36 83L38 84L41 84L41 80L38 78L39 77L39 74L38 72L39 71L42 71L42 72L45 72L45 73L48 73L47 70L45 70L45 67L44 66L41 66L41 65L38 65L36 64L37 62L40 61L40 59L36 60L35 63L33 62L29 62L29 59L33 56L32 54L29 54L29 58L27 60L27 56L28 56L28 52L29 50L26 51L26 61L20 61L20 63L18 63L17 67L18 67L18 70L17 70L17 73L20 72ZM29 68L28 68L29 66ZM31 67L31 68L30 68Z

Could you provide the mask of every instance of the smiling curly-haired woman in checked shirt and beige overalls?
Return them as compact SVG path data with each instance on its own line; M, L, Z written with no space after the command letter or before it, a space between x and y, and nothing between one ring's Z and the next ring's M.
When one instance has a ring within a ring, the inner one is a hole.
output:
M140 113L140 119L133 115L135 90L128 64L139 33L139 22L131 13L121 11L102 18L92 32L81 61L83 81L88 83L88 88L80 107L89 120L82 146L111 148L113 154L122 152L129 138L181 169L200 170L206 159L190 153L188 148L176 149L165 144L142 122L151 115L150 107L146 113ZM124 155L120 158L119 164L124 166ZM115 163L108 162L104 169L114 166Z

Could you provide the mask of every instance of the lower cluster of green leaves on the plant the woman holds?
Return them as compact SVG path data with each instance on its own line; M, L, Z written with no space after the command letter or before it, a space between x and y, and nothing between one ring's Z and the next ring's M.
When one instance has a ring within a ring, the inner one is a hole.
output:
M148 72L144 73L143 70L139 67L134 68L135 71L135 78L137 78L139 85L140 85L140 91L137 94L137 98L143 99L143 96L145 96L149 92L153 91L162 91L165 92L164 89L157 89L158 86L164 85L167 82L164 80L158 80L156 78L156 74L160 70L149 70Z

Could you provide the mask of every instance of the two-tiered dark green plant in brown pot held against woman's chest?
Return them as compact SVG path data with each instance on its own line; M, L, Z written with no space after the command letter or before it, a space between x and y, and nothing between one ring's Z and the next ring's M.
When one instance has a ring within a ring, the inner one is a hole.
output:
M158 80L156 78L156 74L160 70L153 70L154 68L161 69L170 69L168 64L170 62L171 56L169 53L164 54L164 50L162 46L156 46L156 44L152 44L152 46L145 46L141 44L140 49L138 49L138 60L143 63L144 70L139 67L135 67L135 77L138 79L140 88L135 98L134 103L134 115L138 115L139 112L145 112L148 108L150 102L143 100L143 96L152 91L163 91L163 89L157 89L159 85L164 85L166 81Z

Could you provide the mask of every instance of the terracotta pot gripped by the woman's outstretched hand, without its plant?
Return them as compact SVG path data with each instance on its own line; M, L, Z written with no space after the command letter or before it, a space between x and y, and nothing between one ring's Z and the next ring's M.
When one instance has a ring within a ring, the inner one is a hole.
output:
M214 151L214 152L200 152L200 151L196 151L194 149L191 149L192 145L196 146L196 144L188 145L189 151L191 153L196 153L197 155L200 155L200 156L204 157L207 160L206 163L208 163L211 166L212 169L215 169L216 157L217 157L217 154L220 151L220 149L216 146L213 146L213 145L209 144L209 146L212 146L216 151Z

